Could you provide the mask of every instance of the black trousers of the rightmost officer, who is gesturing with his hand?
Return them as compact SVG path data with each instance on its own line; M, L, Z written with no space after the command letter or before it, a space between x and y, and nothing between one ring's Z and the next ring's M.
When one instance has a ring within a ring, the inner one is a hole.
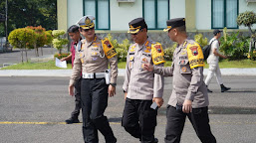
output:
M166 111L167 125L165 143L179 143L186 116L190 120L196 135L202 143L216 143L209 125L208 107L192 108L192 112L184 113L168 105Z

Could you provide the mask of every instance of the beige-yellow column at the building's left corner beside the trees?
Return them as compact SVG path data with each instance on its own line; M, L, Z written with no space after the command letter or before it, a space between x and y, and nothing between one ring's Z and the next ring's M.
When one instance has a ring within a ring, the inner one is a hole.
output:
M57 0L58 30L68 29L68 0Z

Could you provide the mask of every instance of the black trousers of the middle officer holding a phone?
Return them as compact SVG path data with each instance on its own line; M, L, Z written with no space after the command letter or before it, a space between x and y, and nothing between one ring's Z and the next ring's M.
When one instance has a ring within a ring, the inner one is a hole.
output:
M152 100L126 99L122 125L142 143L153 143L157 111L150 108Z

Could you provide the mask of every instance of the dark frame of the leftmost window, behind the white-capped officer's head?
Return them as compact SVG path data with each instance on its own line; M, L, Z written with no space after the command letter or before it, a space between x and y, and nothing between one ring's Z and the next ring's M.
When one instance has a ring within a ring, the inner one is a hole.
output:
M86 16L86 8L85 8L85 1L87 0L83 0L83 16ZM95 1L95 30L111 30L111 2L110 0L107 0L109 3L109 28L108 29L99 29L99 24L98 24L98 0L91 0L91 1Z

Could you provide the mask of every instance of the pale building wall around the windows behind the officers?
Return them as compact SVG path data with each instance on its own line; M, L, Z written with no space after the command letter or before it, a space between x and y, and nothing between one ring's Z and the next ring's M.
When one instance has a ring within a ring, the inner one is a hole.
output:
M195 1L195 30L211 30L211 0ZM83 16L83 0L58 0L58 29L67 30ZM185 17L185 0L169 1L169 18ZM125 32L128 30L128 22L133 18L142 17L142 0L135 0L134 3L119 3L117 0L110 0L111 31ZM187 9L188 10L188 9ZM239 13L254 11L256 13L256 3L248 3L239 0ZM193 13L193 11L191 11ZM165 23L165 22L164 22ZM256 24L252 27L256 29ZM246 30L247 27L240 26L239 29Z

